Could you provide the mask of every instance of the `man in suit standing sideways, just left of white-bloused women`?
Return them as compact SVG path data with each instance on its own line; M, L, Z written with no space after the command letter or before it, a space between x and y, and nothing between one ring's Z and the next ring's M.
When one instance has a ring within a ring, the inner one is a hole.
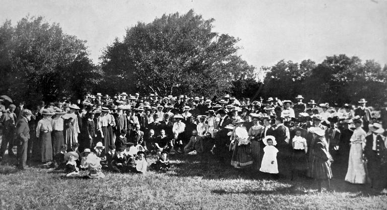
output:
M27 146L30 139L30 128L28 121L31 120L32 112L28 109L22 111L21 117L16 124L16 144L18 145L18 160L20 170L25 170L27 162Z

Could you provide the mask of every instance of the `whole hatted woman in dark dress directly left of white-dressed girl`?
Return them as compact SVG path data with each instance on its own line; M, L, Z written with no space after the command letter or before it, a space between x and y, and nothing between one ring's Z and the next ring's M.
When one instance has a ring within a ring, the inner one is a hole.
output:
M248 138L251 141L251 156L253 160L253 169L259 170L262 162L261 144L262 138L261 133L264 127L259 123L258 114L250 114L252 117L253 125L248 130Z

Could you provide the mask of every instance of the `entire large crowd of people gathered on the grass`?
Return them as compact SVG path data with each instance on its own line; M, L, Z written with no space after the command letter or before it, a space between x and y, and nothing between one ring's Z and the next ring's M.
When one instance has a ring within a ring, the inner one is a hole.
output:
M357 107L295 100L97 93L36 106L0 104L0 158L7 146L16 156L17 146L21 170L38 160L68 176L87 170L101 178L105 170L168 171L170 155L208 154L241 170L310 177L319 190L324 180L330 189L332 167L348 167L347 182L385 187L387 108L376 117L365 99ZM150 166L149 154L159 156Z

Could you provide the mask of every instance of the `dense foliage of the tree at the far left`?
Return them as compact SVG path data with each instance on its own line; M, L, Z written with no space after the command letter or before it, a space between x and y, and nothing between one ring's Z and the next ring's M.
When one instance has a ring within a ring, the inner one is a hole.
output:
M0 28L0 92L24 100L80 96L100 80L85 41L42 17L26 17Z

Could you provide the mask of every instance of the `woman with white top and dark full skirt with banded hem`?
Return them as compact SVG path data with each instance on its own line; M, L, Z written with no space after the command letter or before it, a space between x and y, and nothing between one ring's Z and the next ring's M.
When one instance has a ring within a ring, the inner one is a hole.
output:
M234 140L234 151L232 153L231 165L235 168L248 168L252 165L250 140L245 127L244 120L235 122L236 126L232 135Z

